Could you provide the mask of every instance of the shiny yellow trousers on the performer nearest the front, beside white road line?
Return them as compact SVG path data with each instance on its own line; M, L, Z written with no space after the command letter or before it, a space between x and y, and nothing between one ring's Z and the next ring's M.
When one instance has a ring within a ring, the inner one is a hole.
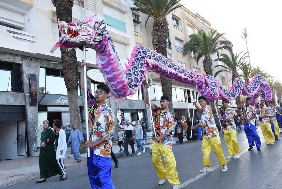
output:
M166 168L162 165L162 156ZM168 182L172 185L180 184L178 173L176 170L176 161L170 148L165 147L161 143L152 143L152 162L155 166L159 179L167 177Z

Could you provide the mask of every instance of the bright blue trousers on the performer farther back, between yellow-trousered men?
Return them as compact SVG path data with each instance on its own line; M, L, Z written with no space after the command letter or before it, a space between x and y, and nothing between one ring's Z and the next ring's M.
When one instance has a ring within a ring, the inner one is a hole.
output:
M256 143L256 147L261 147L260 138L256 131L256 125L250 124L250 126L251 126L251 130L249 124L244 123L244 131L249 142L249 147L254 146L255 145L254 143Z

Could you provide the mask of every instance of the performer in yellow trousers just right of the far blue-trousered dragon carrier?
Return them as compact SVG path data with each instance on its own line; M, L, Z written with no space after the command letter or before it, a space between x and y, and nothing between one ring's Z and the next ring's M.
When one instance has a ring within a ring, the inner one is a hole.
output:
M261 100L261 115L259 115L260 119L260 127L263 131L263 136L267 145L274 145L275 137L273 132L271 131L271 125L269 120L269 108L265 105L265 100Z

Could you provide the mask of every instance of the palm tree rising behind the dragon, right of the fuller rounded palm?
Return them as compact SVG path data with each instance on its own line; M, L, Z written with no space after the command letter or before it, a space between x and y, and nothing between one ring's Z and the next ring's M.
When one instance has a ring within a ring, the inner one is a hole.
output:
M243 53L243 52L241 52ZM242 54L242 56L240 56L240 54L235 54L231 53L231 57L229 57L228 54L221 54L220 58L216 58L214 61L221 61L224 63L224 65L216 65L214 68L219 67L221 68L221 70L218 70L217 72L215 72L215 77L221 73L221 72L229 72L232 73L231 76L231 80L234 81L236 77L240 77L240 74L238 73L238 71L241 69L241 66L246 64L246 58L247 56L245 56L247 53ZM241 100L240 100L240 95L236 98L236 104L240 104Z

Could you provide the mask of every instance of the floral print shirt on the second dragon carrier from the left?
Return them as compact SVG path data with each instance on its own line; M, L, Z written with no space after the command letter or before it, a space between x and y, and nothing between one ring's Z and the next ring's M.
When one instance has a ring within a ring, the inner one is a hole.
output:
M156 116L154 120L156 135L161 136L163 134L168 134L168 136L162 138L160 142L165 147L172 149L172 138L174 134L173 115L168 110L162 110L162 108L158 107L157 105L154 105L152 111ZM155 135L153 133L152 138L154 137Z

